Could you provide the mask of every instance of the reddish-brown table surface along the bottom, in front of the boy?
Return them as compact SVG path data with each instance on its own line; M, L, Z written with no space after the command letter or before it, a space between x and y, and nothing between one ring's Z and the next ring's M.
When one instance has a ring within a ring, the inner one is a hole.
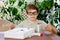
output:
M25 39L5 38L5 40L60 40L60 36L58 35L50 36L50 35L44 34L42 37L35 35L35 36L32 36L30 38L25 38Z

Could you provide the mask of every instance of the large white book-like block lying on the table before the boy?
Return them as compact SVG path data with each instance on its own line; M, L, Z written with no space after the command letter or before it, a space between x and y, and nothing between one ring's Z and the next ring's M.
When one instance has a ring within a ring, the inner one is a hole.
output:
M33 33L34 33L33 28L15 28L13 30L4 32L4 35L5 38L24 39L26 37L33 36Z

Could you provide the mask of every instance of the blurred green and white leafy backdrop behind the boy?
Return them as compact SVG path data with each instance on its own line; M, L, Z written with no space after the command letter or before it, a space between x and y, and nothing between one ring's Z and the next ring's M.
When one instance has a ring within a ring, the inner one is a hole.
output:
M38 20L44 20L60 31L60 0L0 0L0 19L18 25L26 19L25 8L28 4L38 7Z

